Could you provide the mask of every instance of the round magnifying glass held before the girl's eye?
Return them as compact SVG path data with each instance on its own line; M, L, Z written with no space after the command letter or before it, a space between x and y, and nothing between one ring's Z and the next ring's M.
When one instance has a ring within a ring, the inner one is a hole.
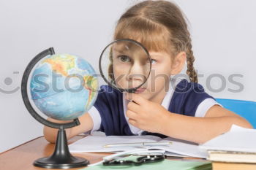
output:
M141 93L151 71L146 47L133 39L117 39L102 51L99 72L105 82L121 92ZM131 100L131 99L130 99Z

